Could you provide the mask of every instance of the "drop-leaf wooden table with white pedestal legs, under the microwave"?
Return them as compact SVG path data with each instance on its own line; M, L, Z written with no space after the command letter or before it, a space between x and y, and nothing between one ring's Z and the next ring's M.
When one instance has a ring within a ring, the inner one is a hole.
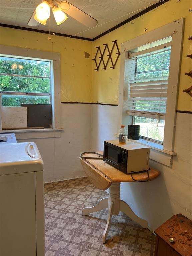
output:
M98 152L103 153L103 152ZM84 155L86 157L95 157L95 154ZM85 207L82 210L83 215L87 215L92 212L97 212L102 209L108 208L108 219L105 231L103 233L103 243L106 241L106 237L111 224L112 215L119 214L119 211L124 212L129 216L133 221L140 224L143 228L148 228L148 223L146 220L138 217L130 208L130 206L120 199L120 183L121 182L135 182L145 181L148 179L147 173L138 173L133 174L132 179L130 174L125 174L111 165L103 161L103 159L82 159L80 157L81 164L83 169L91 181L91 183L98 189L106 190L109 188L109 196L101 199L93 207ZM150 169L149 170L149 179L148 181L153 180L160 174L159 171Z

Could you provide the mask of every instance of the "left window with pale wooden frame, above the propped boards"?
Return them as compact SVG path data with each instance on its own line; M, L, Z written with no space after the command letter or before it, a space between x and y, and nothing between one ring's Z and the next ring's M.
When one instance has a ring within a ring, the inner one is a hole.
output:
M22 103L51 104L53 129L48 132L61 129L60 53L0 45L0 106ZM1 124L0 108L0 131Z

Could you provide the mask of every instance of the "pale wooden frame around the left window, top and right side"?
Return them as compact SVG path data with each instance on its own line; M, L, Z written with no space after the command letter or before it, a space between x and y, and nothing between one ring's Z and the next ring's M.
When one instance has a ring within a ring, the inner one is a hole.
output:
M17 53L17 54L15 54ZM50 62L50 104L52 104L53 128L61 128L61 79L60 79L60 53L46 52L20 47L0 45L0 55L12 58L25 58L31 60L49 61ZM17 94L18 95L18 94ZM29 95L29 93L25 93ZM32 93L31 93L32 95ZM1 97L0 97L1 106ZM0 131L1 127L1 108L0 108ZM26 129L27 130L27 129Z

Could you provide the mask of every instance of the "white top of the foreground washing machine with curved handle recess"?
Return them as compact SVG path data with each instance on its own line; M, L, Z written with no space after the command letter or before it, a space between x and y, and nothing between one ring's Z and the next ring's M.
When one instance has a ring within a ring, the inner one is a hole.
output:
M34 142L1 144L0 175L42 170L43 160Z

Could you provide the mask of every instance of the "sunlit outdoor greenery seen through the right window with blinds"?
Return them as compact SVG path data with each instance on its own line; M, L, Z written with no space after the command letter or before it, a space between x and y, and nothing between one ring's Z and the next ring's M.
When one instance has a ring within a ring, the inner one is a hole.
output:
M145 54L141 58L138 58L135 79L141 79L141 81L142 79L144 79L144 81L152 81L151 78L153 78L153 80L154 78L157 78L156 80L159 78L162 80L166 79L166 77L169 76L170 52L170 49L168 51L157 51L157 53L153 55ZM134 104L134 109L136 110L162 113L166 111L166 101L160 98L157 98L157 101L150 101L150 98L148 101L136 100ZM140 135L163 141L164 120L134 117L134 124L141 126Z

